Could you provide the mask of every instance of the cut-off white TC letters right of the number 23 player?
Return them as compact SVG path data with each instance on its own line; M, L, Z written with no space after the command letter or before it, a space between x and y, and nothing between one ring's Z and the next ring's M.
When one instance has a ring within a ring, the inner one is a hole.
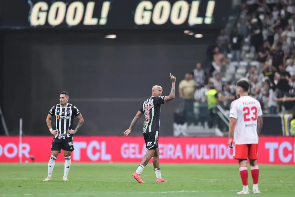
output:
M292 159L295 162L295 143L291 144L288 141L283 141L281 144L278 142L266 142L265 149L269 150L269 162L274 162L277 156L283 163L289 163Z

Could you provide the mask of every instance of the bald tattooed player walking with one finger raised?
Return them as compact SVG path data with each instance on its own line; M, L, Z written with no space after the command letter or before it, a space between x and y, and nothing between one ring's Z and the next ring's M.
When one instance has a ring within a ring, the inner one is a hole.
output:
M124 136L128 136L131 133L132 128L137 122L138 118L140 118L142 114L145 115L145 121L143 126L143 137L145 139L147 152L145 156L143 157L137 170L132 174L132 177L135 178L138 181L138 183L144 183L141 180L140 175L152 157L153 157L153 166L154 166L154 170L156 174L156 182L157 183L167 182L161 176L160 164L159 164L160 152L159 152L158 141L159 141L161 104L164 104L164 102L173 100L175 97L176 77L170 73L170 79L172 82L170 95L163 97L162 87L154 86L152 88L152 96L143 102L139 111L133 118L130 127L124 132Z

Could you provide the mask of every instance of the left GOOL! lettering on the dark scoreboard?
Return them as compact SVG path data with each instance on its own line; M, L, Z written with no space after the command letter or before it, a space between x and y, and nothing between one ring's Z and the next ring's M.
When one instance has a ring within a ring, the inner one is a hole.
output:
M51 26L60 25L65 20L69 26L76 26L82 22L83 25L105 25L109 12L110 2L104 1L101 9L101 18L93 17L95 1L89 1L84 7L81 1L74 1L67 4L62 1L56 1L49 6L47 2L40 1L31 9L30 24L31 26L45 25L46 21Z

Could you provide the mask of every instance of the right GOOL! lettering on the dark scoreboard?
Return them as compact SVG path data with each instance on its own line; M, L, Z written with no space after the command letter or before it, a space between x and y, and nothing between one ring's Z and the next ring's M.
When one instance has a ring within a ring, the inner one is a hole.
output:
M136 25L149 25L152 21L155 25L165 24L169 17L174 25L181 25L188 19L189 25L212 24L212 16L215 1L208 1L206 17L199 17L199 5L201 1L176 1L172 6L169 1L158 1L153 6L151 1L142 1L137 5L134 15ZM191 8L190 8L191 7Z

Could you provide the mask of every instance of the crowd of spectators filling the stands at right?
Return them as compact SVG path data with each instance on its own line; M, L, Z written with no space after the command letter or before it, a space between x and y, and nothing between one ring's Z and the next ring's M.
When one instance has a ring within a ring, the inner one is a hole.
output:
M248 41L253 59L245 60L242 48ZM230 54L230 56L229 56ZM219 104L229 110L236 99L235 82L222 80L232 61L255 61L244 77L250 83L249 95L260 101L264 113L293 113L295 101L295 0L247 0L237 24L227 35L220 31L207 55L211 67L205 71L200 63L179 84L179 95L189 100L187 116L193 121L193 103L205 103L207 84L218 91ZM201 109L200 109L201 110Z

